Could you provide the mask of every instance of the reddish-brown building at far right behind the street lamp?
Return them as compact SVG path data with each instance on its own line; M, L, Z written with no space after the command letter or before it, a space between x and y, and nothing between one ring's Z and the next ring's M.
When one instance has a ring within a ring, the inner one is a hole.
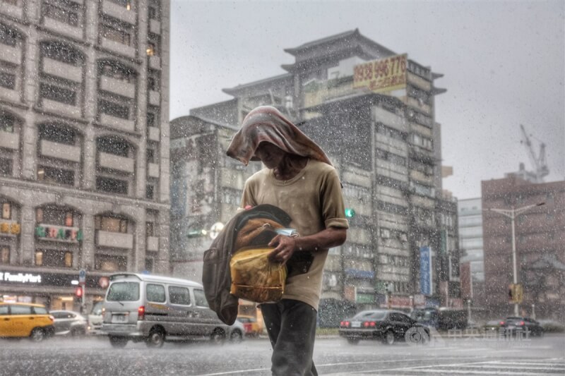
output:
M489 208L519 210L515 220L518 283L523 285L520 313L565 320L565 181L530 183L518 176L482 181L484 279L492 315L512 315L511 219Z

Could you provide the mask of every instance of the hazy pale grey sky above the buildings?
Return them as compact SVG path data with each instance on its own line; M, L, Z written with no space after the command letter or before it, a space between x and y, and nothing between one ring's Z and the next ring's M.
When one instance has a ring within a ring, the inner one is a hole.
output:
M283 49L359 28L432 71L444 188L480 196L480 181L531 168L520 124L545 142L565 179L565 1L192 1L171 4L170 116L231 99L222 92L286 71ZM536 139L537 138L537 139Z

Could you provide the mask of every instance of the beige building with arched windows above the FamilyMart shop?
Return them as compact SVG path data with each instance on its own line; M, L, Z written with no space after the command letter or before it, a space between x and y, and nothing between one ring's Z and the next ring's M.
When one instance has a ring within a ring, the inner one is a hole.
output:
M0 301L169 272L169 1L0 0L0 47Z

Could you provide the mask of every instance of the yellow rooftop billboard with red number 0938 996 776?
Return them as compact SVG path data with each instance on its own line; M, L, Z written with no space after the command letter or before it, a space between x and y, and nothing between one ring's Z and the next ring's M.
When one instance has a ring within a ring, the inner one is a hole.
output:
M408 55L402 54L356 65L353 87L367 87L380 93L405 89L407 59Z

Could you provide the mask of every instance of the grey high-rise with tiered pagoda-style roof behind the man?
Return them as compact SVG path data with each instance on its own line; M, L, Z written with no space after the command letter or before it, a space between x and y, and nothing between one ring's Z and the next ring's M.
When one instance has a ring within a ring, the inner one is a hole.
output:
M245 168L226 157L225 149L244 116L268 104L328 153L345 205L355 211L347 242L330 250L322 298L374 307L386 304L389 291L389 303L398 308L460 305L456 200L441 190L441 127L434 114L434 95L445 91L434 87L441 75L406 59L402 88L383 94L354 87L357 66L402 59L359 30L285 51L295 57L283 65L287 73L225 89L234 99L171 121L172 195L186 191L179 196L183 202L172 205L177 235L171 250L179 260L173 267L201 269L195 265L211 240L198 232L225 223L239 205L246 176L260 166ZM195 153L206 158L198 162ZM190 181L198 184L186 186ZM432 248L433 265L425 296L424 246Z

